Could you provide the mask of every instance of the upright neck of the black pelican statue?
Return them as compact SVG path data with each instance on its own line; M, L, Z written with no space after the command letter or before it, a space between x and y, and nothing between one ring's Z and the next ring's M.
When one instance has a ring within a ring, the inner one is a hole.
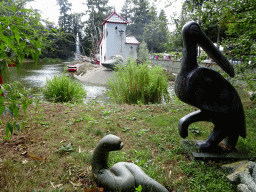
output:
M192 42L184 42L183 60L181 70L189 73L198 67L197 64L197 45Z

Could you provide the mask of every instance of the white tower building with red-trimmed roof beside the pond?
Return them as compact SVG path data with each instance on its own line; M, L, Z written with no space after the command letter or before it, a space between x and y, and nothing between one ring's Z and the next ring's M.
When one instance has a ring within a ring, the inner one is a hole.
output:
M112 55L122 55L125 59L132 56L137 59L137 46L140 42L134 36L126 36L129 22L113 12L104 19L103 34L99 42L100 64Z

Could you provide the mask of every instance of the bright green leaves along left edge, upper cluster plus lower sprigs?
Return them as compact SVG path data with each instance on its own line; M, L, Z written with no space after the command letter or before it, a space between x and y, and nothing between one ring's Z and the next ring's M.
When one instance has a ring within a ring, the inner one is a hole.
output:
M0 2L0 75L8 64L16 64L19 70L24 57L31 56L37 64L46 41L47 31L39 22L40 15L30 9L25 9L26 1L1 1ZM20 105L24 113L31 104L25 89L17 89L16 85L7 85L4 88L5 97L0 98L0 115L9 113L14 117L14 122L7 122L6 139L9 139L15 129L19 130L17 118ZM8 89L8 90L7 90ZM0 91L2 93L2 89ZM9 106L5 106L5 101ZM22 123L24 127L24 123Z

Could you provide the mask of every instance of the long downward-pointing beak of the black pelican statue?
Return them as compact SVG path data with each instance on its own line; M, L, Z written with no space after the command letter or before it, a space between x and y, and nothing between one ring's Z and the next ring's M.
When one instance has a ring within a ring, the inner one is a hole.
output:
M197 28L198 29L198 28ZM194 30L197 30L194 28ZM199 32L199 31L197 31ZM227 60L227 58L217 49L217 47L211 42L211 40L200 31L200 40L198 45L231 77L234 77L235 72L233 66Z

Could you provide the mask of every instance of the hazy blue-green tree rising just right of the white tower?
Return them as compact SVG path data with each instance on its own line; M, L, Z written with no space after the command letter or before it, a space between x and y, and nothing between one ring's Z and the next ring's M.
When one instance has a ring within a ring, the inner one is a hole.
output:
M144 40L150 52L166 51L169 30L163 10L158 16L156 6L150 6L148 0L127 0L121 14L131 21L126 34L134 35L139 41Z

